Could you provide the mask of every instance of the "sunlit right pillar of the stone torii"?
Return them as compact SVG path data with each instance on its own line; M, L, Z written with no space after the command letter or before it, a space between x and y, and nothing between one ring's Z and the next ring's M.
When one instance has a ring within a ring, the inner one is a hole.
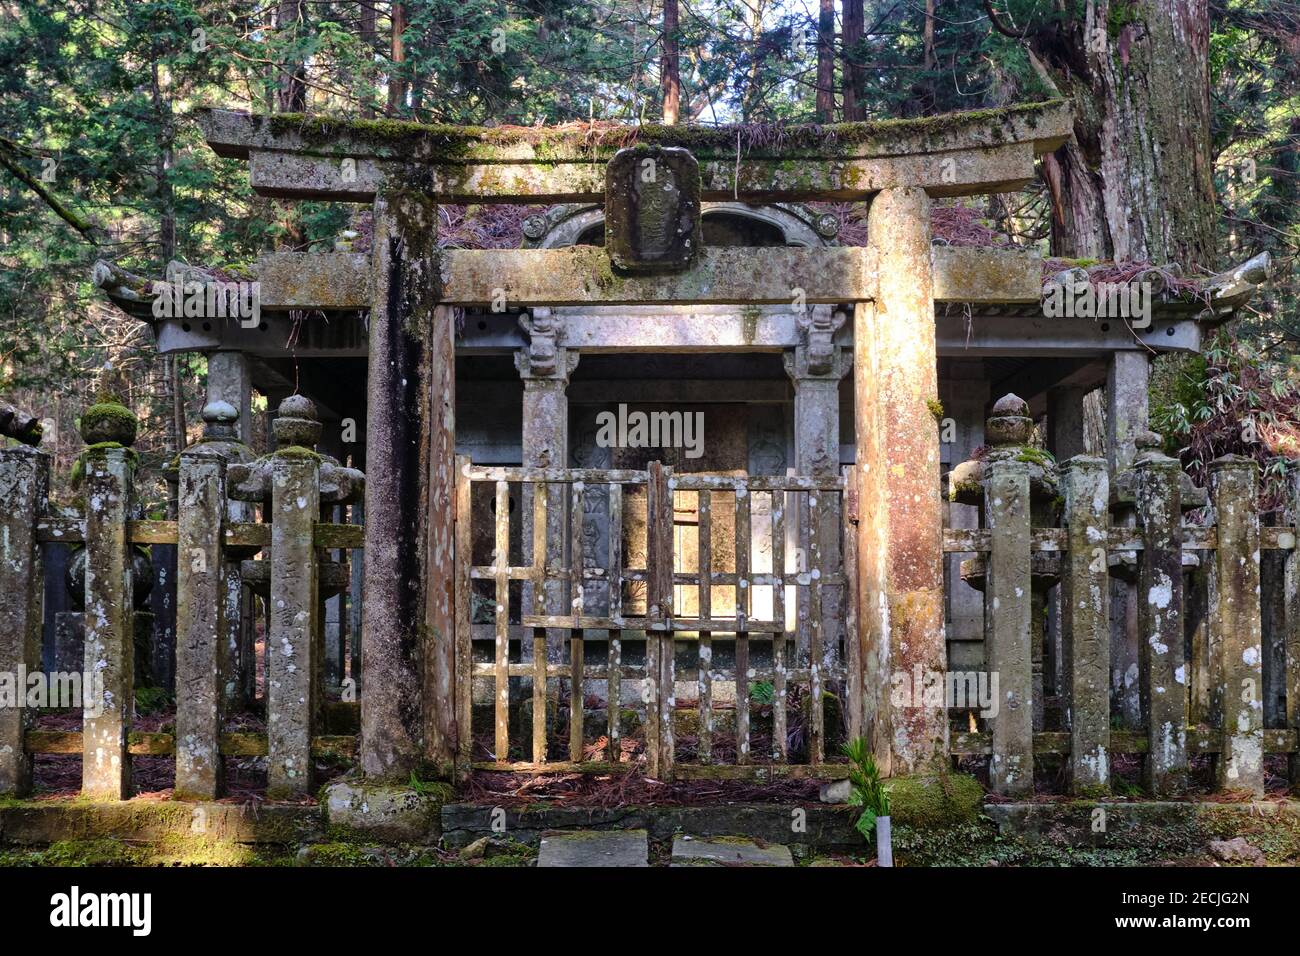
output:
M854 401L859 488L858 592L863 653L879 654L876 719L888 715L888 774L942 765L948 715L913 701L889 708L896 674L944 680L942 511L939 498L937 367L930 258L930 198L888 189L868 213L876 298L854 313ZM871 728L871 721L864 724ZM881 735L872 735L879 747Z

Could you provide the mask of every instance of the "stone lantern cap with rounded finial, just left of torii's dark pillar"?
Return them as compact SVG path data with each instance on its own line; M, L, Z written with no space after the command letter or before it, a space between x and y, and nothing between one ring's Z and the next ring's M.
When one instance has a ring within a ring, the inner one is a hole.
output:
M209 408L221 405L226 403L213 402ZM228 427L222 410L213 408L212 418L211 427L218 429ZM321 437L321 423L309 398L290 395L281 402L270 431L277 445L272 454L255 462L231 464L226 472L231 498L269 505L272 468L277 458L312 458L320 463L321 505L351 505L361 497L365 476L356 468L344 468L337 459L316 451L316 442Z

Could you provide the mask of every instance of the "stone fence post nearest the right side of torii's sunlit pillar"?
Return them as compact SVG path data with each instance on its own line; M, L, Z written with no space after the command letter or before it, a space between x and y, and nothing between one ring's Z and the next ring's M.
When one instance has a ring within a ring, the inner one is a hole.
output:
M992 549L984 589L989 671L998 676L989 784L994 793L1034 791L1034 671L1030 648L1030 472L991 463L984 514Z

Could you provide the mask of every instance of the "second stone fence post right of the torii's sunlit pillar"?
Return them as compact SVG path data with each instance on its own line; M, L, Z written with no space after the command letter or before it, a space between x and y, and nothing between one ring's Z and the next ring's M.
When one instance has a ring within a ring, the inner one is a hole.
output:
M1066 553L1061 568L1062 674L1070 726L1070 792L1110 787L1110 481L1102 458L1065 463Z

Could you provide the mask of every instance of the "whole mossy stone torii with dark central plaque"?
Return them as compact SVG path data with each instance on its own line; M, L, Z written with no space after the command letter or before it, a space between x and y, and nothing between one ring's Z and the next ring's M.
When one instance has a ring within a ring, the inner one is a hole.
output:
M820 127L200 122L261 195L373 204L370 254L277 254L255 271L268 316L369 316L367 775L454 763L454 308L485 303L852 306L862 726L890 774L946 758L942 705L888 705L890 674L945 670L935 304L1037 303L1041 267L1024 250L932 248L930 204L1028 183L1070 134L1063 104ZM708 247L702 200L866 202L870 241ZM463 202L603 202L606 248L439 248L438 204Z

